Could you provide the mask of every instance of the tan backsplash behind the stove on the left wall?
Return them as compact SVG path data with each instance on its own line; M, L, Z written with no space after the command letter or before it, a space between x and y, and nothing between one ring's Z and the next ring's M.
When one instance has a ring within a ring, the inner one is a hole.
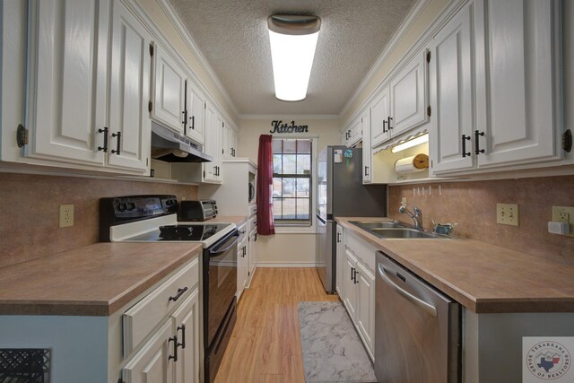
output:
M99 201L107 196L173 194L197 187L146 181L0 173L0 267L98 242ZM58 227L58 206L74 205L74 226Z

